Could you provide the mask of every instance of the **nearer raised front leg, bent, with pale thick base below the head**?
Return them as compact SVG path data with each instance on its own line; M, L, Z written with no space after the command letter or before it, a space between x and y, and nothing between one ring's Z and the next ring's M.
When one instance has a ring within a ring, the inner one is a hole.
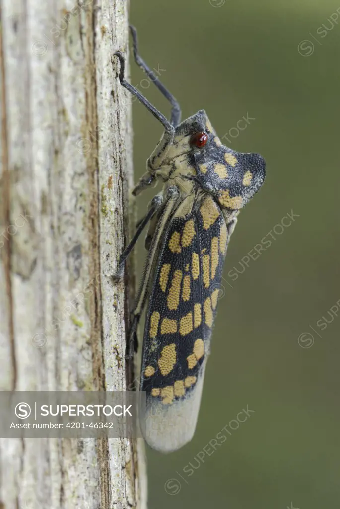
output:
M120 62L119 81L121 86L128 90L132 95L137 97L137 99L150 111L150 113L164 126L164 134L156 149L152 152L150 158L147 161L147 172L143 175L139 183L132 191L132 194L136 196L141 191L143 191L143 189L151 186L156 180L154 173L162 163L162 160L166 156L170 145L173 142L175 128L157 108L152 106L152 104L135 87L126 81L124 77L125 58L120 51L116 51L114 54L118 56Z

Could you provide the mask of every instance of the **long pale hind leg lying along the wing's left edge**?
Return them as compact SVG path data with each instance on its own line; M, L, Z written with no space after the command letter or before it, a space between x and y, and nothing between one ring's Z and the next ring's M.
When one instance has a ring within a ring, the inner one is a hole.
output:
M133 356L133 351L136 351L137 346L137 328L140 321L141 314L143 313L145 302L147 299L147 290L150 278L153 273L154 264L157 258L157 253L160 247L160 240L166 228L166 224L171 216L179 196L179 191L176 186L170 186L166 190L166 203L164 205L163 213L158 221L156 231L152 237L150 249L148 251L142 279L140 281L139 290L136 298L136 305L133 310L133 318L130 326L130 340L129 340L129 358Z

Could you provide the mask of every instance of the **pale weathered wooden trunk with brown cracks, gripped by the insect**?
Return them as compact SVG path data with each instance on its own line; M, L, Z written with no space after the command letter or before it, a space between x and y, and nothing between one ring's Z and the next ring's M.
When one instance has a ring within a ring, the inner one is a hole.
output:
M0 389L123 390L127 3L0 5ZM141 440L1 439L0 455L0 509L145 507Z

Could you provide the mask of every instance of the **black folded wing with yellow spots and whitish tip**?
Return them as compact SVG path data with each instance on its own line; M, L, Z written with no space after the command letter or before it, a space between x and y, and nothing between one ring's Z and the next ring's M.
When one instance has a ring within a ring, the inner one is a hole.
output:
M227 235L220 207L200 191L184 199L163 234L147 306L141 390L145 439L164 452L195 432Z

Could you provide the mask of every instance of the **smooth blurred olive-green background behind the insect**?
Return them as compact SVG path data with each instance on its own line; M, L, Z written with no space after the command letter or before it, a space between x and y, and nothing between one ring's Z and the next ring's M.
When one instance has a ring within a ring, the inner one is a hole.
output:
M255 120L237 137L227 134L228 145L267 162L265 185L241 212L228 248L224 277L233 288L223 281L195 437L171 455L147 451L151 509L339 506L339 5L131 2L140 52L163 69L183 118L203 108L222 137L248 113ZM133 62L131 76L169 115ZM137 102L133 122L137 180L162 128ZM139 215L151 196L138 199ZM228 276L292 210L299 217L291 226L273 233L236 280ZM140 267L144 255L139 244ZM333 320L322 330L323 316ZM197 459L247 404L255 412ZM190 463L200 465L188 476Z

